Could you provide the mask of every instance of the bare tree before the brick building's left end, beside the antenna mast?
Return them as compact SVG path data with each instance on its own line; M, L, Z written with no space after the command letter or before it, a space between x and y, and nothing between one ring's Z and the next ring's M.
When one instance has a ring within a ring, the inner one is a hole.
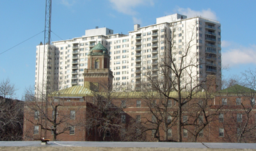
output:
M40 93L40 90L39 88L37 92ZM61 97L63 93L65 90L56 90L49 94L48 98L37 98L33 89L26 89L24 118L33 126L40 126L41 137L46 137L42 130L46 133L51 131L53 140L57 140L58 135L68 133L74 127L79 129L83 126L85 117L83 110L80 110L79 98L71 100L68 97Z

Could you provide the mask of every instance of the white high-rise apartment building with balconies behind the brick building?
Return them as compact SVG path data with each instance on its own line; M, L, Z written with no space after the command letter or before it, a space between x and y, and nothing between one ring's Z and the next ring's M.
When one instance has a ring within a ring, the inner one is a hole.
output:
M104 45L111 56L113 85L131 85L133 89L140 89L140 83L147 80L148 68L150 76L162 78L157 67L172 53L172 61L176 60L177 65L198 65L189 68L192 73L189 76L195 77L195 82L204 80L207 75L216 75L217 85L221 87L220 22L180 14L157 18L154 25L140 27L136 24L128 35L113 34L111 29L96 27L86 30L79 38L54 41L47 66L42 64L44 45L38 45L35 86L42 85L42 70L47 67L51 68L47 76L50 85L58 83L59 89L83 85L88 53L97 43ZM182 60L182 54L188 48L189 54ZM182 82L186 82L186 74L182 76Z

